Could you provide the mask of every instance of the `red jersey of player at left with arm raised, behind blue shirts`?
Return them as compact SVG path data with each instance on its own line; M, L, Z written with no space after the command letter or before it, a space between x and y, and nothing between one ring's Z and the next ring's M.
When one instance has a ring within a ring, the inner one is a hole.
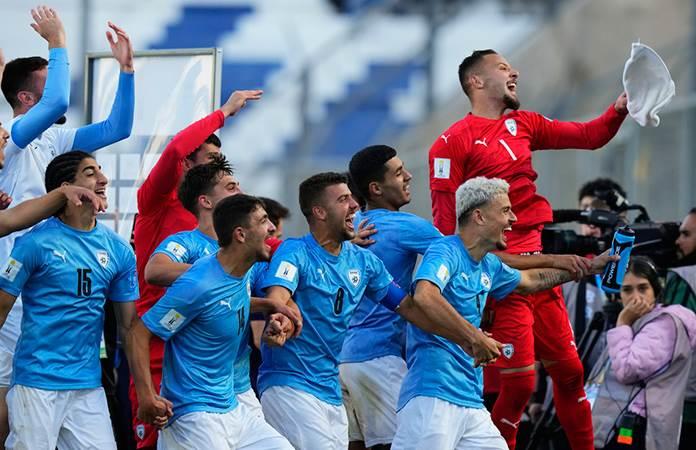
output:
M145 266L155 248L179 231L193 230L196 217L179 201L177 189L184 159L221 128L225 115L217 110L179 132L162 152L157 164L138 189L138 218L135 222L135 256L140 300L135 303L142 316L164 294L165 289L145 281Z

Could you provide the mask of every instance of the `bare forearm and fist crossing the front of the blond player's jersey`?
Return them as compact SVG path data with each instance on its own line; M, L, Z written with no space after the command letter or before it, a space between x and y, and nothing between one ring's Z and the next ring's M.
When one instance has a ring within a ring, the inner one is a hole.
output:
M492 363L500 356L502 344L464 319L430 281L418 281L414 295L406 296L396 312L418 328L462 347L474 358L475 366Z

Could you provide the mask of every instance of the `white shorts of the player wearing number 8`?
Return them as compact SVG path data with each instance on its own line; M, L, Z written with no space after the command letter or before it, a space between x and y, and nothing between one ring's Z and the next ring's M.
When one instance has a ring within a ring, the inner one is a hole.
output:
M301 450L348 448L346 409L288 386L273 386L261 396L266 420Z

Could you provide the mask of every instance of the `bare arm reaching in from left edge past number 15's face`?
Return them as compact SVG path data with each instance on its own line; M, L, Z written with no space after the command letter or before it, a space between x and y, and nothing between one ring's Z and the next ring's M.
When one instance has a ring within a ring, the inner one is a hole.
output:
M37 224L55 214L67 202L81 206L84 201L92 203L95 212L105 210L103 199L94 191L78 186L62 186L39 198L22 202L8 211L0 212L0 236Z

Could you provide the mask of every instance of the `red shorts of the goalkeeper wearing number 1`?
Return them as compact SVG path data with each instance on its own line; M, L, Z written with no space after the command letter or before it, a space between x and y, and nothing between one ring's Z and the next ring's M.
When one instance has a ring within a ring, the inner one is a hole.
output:
M489 298L487 308L493 311L489 329L493 338L512 344L498 358L496 367L511 369L530 366L535 360L578 357L560 286L528 296L510 294L500 301Z

